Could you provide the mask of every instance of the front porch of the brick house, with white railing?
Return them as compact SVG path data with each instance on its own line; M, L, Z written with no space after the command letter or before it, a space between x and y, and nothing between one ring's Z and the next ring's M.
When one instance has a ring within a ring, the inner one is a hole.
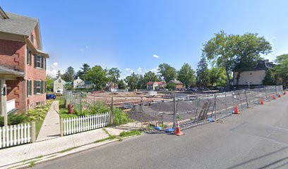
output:
M24 73L0 65L0 115L16 110L20 101L19 86L23 82ZM15 89L17 87L17 89ZM25 85L24 85L25 87ZM23 99L25 101L25 99ZM23 104L25 106L25 104Z

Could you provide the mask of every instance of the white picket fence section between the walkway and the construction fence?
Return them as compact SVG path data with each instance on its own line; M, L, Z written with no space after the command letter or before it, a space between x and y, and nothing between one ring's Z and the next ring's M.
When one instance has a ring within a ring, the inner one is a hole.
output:
M61 132L64 135L85 132L109 125L110 113L100 113L97 115L83 115L74 118L62 118L63 125Z

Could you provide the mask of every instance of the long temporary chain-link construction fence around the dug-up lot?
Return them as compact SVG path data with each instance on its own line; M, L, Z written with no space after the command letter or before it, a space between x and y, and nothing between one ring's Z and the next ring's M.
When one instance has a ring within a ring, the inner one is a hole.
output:
M258 89L243 89L215 94L194 94L182 96L90 96L66 92L66 102L76 106L79 111L89 111L97 106L99 101L109 106L112 112L112 125L121 127L145 128L155 126L175 127L179 120L182 129L220 120L234 113L234 107L239 110L258 105L260 98L269 101L272 96L282 94L282 86L262 87ZM171 94L170 94L171 95ZM101 104L100 104L101 105ZM121 108L132 121L127 122L125 116L115 118L116 109ZM126 123L126 124L124 124Z

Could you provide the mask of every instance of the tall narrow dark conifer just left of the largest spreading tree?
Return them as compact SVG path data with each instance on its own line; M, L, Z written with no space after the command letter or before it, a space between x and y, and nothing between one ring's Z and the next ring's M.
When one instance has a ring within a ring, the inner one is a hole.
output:
M196 70L197 83L201 87L207 87L209 83L208 63L205 56L201 56Z

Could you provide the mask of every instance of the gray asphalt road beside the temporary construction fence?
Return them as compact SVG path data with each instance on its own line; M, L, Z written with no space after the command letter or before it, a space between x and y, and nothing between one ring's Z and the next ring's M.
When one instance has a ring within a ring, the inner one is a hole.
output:
M184 130L144 134L35 168L288 168L288 96Z

